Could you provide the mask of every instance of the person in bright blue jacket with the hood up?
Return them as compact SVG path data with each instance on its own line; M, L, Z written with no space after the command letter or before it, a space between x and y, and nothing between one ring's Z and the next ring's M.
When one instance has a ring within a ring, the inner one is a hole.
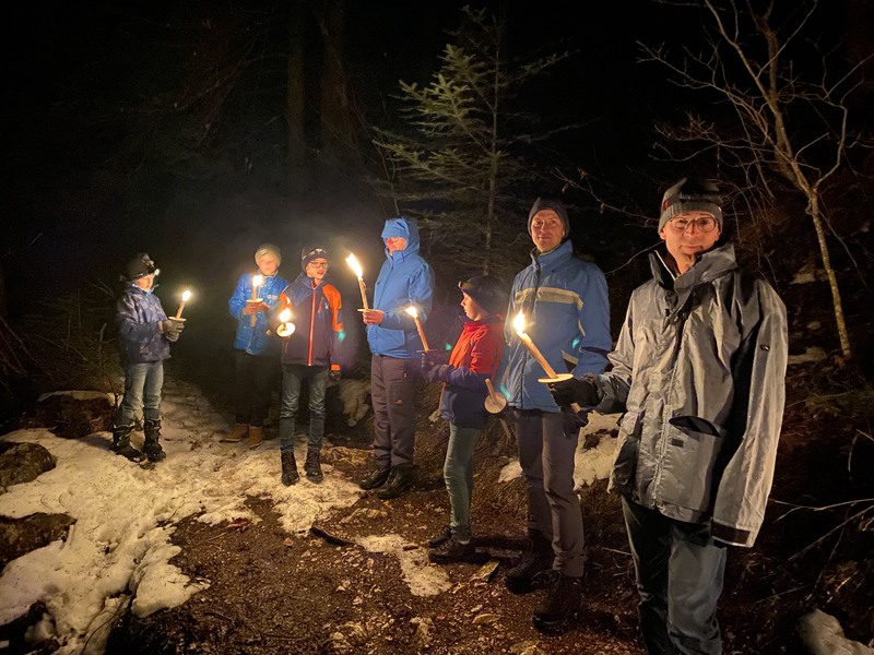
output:
M415 396L424 349L413 317L424 323L434 296L434 272L418 254L415 219L398 216L382 229L386 262L374 288L374 308L362 318L370 346L370 397L374 404L374 468L358 485L381 499L397 498L413 485Z

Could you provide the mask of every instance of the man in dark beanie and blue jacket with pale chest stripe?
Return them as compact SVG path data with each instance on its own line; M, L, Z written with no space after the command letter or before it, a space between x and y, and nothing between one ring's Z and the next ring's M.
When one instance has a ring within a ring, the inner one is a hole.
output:
M612 341L607 285L594 264L574 257L566 239L565 205L538 199L528 218L534 242L531 264L513 281L507 311L504 371L499 380L516 420L519 463L528 486L529 548L506 576L515 593L553 570L545 600L534 610L539 628L564 623L581 604L584 535L574 492L574 457L584 418L563 413L539 382L545 372L519 338L513 320L522 312L525 332L558 373L600 373Z

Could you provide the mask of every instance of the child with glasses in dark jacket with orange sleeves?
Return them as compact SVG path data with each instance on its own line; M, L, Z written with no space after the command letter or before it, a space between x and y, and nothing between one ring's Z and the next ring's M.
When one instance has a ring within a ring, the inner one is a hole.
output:
M304 472L320 483L321 443L324 434L324 392L328 379L340 380L340 342L343 337L342 299L335 286L326 282L328 251L304 248L304 272L280 295L277 313L291 309L295 332L282 344L282 406L280 408L280 456L282 483L300 479L294 457L294 430L300 385L309 380L309 440Z

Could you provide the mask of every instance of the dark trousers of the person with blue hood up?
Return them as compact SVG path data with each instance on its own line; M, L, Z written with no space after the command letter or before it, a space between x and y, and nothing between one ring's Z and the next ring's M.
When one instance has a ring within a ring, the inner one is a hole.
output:
M374 457L388 468L413 463L416 432L418 361L374 355L370 400L374 403Z

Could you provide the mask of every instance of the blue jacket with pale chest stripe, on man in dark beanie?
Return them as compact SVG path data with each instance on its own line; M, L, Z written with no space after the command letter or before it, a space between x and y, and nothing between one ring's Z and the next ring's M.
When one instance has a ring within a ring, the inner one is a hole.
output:
M558 412L550 390L538 382L546 374L543 367L513 330L520 310L525 332L556 373L600 373L613 345L606 279L598 266L574 257L570 241L543 254L532 251L531 264L513 279L504 325L501 391L512 407Z

